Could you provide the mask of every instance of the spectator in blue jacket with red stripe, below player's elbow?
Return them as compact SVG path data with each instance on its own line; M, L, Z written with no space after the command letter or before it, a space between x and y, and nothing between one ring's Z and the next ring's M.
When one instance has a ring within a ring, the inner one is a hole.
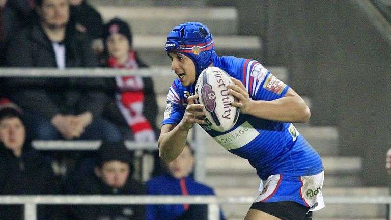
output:
M167 164L167 174L149 180L149 195L214 195L211 187L199 183L190 175L195 159L186 143L182 153ZM207 218L207 205L147 205L147 220L203 220ZM220 211L220 219L224 215Z

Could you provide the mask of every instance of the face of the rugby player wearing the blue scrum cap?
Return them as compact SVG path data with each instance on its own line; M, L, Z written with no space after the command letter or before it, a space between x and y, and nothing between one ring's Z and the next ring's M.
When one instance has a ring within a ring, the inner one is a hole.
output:
M182 53L170 52L171 69L177 74L183 86L190 86L195 82L195 65L193 61Z

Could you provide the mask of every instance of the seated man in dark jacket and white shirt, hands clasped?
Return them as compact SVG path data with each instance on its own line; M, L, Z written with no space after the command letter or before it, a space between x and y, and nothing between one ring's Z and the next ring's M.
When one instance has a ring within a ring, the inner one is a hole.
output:
M36 0L37 22L9 41L12 67L97 67L86 34L69 25L68 0ZM103 78L8 78L4 95L26 111L34 139L121 141L118 128L101 115L110 99Z

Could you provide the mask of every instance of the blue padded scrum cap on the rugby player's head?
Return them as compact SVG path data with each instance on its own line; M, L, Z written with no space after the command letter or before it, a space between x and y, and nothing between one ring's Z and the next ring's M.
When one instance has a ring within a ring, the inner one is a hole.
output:
M167 36L165 51L185 54L195 65L197 78L216 57L213 36L200 22L186 22L176 26Z

